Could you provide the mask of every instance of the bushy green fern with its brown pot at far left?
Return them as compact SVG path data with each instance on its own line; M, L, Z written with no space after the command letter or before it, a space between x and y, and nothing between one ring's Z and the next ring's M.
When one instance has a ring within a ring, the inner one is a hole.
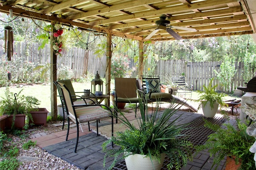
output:
M5 98L0 100L0 115L7 115L6 129L13 127L23 129L25 126L26 116L28 120L32 120L30 111L40 104L39 100L33 96L24 96L20 92L13 93L7 87L5 91Z

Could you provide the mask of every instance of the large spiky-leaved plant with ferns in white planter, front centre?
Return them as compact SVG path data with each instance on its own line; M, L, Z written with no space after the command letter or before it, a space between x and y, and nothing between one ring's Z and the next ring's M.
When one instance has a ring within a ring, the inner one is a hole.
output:
M146 170L159 170L165 156L170 159L168 168L175 167L179 169L186 165L187 159L190 158L188 153L192 144L185 140L181 131L186 129L187 124L176 125L175 120L177 118L169 121L180 106L178 107L173 101L163 113L158 113L159 104L160 102L156 103L156 109L152 113L148 111L147 103L143 104L142 99L139 98L140 114L136 115L140 117L140 119L137 119L138 128L130 123L122 112L118 115L118 120L126 125L128 129L124 132L117 132L116 136L102 144L102 149L106 152L104 166L108 156L114 157L114 161L108 169L113 168L118 161L124 158L128 170L143 170L145 168ZM118 149L107 149L108 144L112 142L119 146ZM130 163L129 160L132 160L132 162ZM147 162L146 165L143 162ZM156 167L149 167L153 165L156 165Z

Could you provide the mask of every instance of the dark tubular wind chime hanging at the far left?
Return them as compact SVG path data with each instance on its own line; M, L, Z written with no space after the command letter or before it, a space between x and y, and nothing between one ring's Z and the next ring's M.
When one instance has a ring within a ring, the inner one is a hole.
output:
M4 27L4 49L8 61L11 61L13 55L13 31L12 27Z

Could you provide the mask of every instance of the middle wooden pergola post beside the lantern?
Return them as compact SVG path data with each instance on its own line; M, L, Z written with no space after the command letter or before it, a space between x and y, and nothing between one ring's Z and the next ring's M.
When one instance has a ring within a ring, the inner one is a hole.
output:
M107 49L106 49L106 94L110 95L110 72L111 72L111 57L112 57L112 34L107 34ZM105 99L105 105L110 106L110 100L108 98Z

